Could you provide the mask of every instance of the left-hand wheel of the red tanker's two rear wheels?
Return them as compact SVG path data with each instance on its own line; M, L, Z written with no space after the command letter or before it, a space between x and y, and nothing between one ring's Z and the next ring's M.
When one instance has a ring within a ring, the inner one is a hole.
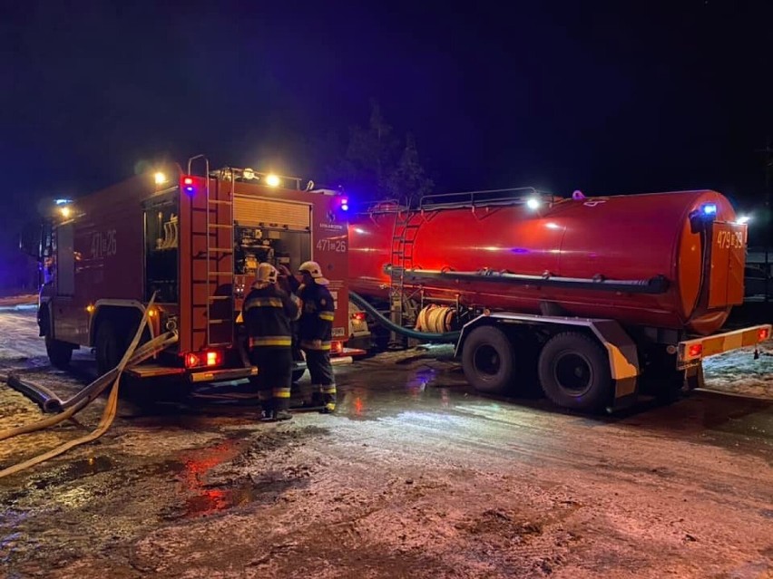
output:
M463 346L462 369L476 391L501 394L513 385L513 344L499 328L491 325L475 328Z

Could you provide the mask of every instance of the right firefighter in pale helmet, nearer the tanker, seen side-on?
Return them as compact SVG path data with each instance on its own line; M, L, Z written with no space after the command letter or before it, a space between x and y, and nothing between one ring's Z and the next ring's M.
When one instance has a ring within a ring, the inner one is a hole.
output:
M326 287L329 282L317 262L307 261L298 267L298 271L303 275L298 290L303 304L298 338L311 375L312 404L321 405L322 411L329 413L336 410L336 378L330 364L330 339L336 304Z

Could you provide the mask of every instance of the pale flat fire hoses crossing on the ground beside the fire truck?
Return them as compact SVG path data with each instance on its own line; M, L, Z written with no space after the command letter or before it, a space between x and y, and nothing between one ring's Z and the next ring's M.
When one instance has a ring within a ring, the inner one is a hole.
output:
M38 420L37 422L33 422L31 424L24 424L13 429L2 430L0 431L0 440L10 439L20 434L35 432L37 430L45 429L64 422L64 420L71 419L77 412L86 408L86 406L88 406L103 391L105 391L112 382L113 388L110 391L107 404L104 407L103 415L97 428L89 434L81 437L80 439L70 440L60 445L59 447L56 447L55 449L44 452L44 454L29 458L17 465L0 470L0 478L16 474L23 471L25 468L38 465L45 460L48 460L49 458L57 457L67 450L85 444L86 442L92 442L93 440L100 438L107 431L107 429L110 428L110 425L113 423L113 419L115 418L115 414L118 411L118 388L121 382L123 371L127 367L131 367L144 360L147 360L148 358L151 358L154 353L160 352L164 348L170 346L172 343L177 342L177 334L170 332L163 333L153 338L150 342L142 344L141 347L137 347L140 343L140 339L142 338L142 331L145 329L145 325L148 323L148 313L151 311L154 300L155 294L153 294L150 303L145 308L145 312L142 315L142 320L139 327L137 328L137 332L134 334L132 343L129 344L129 347L123 354L121 362L119 362L118 365L113 368L113 370L97 378L91 384L83 388L82 391L76 393L69 400L64 400L64 402L60 401L59 404L61 407L66 409L60 414L56 414L55 416L46 418L44 420Z

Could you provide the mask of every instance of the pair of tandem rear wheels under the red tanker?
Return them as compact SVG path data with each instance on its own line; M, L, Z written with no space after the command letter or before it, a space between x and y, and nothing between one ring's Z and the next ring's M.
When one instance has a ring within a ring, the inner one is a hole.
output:
M475 390L505 394L533 372L533 349L516 352L500 328L476 328L465 341L462 367ZM598 411L612 394L609 358L602 345L579 332L554 335L539 351L536 373L544 394L558 406Z

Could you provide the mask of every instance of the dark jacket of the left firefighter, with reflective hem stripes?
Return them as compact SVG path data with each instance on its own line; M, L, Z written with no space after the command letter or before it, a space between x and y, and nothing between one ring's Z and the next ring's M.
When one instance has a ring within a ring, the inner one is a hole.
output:
M242 317L250 337L250 348L256 346L292 345L292 322L300 315L298 298L269 284L253 285L244 298Z

